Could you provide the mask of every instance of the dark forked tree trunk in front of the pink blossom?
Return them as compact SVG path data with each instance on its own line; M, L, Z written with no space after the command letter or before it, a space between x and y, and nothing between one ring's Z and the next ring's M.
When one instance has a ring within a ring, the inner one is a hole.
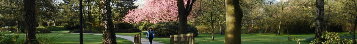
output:
M196 0L187 0L186 8L183 4L183 0L177 0L177 9L178 9L178 21L180 25L180 33L185 34L188 33L188 25L187 25L187 17L192 10L192 5ZM191 3L190 3L191 2Z

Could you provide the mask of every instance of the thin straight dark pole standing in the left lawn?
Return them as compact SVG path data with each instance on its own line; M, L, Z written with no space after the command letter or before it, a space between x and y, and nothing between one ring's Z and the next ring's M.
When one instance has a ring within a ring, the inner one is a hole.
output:
M83 6L82 0L79 0L79 44L83 44Z

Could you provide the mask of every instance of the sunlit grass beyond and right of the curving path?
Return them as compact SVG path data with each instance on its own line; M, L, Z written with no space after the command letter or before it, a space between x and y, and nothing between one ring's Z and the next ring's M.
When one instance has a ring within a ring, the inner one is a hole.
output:
M141 33L141 32L139 32ZM134 36L134 34L138 33L115 33L116 35L122 35L122 36ZM348 34L347 32L341 32L339 33L341 36L343 34ZM143 37L145 38L146 34L142 34ZM350 34L348 34L350 35ZM211 33L199 33L198 37L195 37L195 43L200 43L200 44L223 44L224 42L224 35L219 35L215 34L215 40L211 40ZM305 38L309 37L314 37L315 34L310 33L310 34L293 34L290 35L290 37L297 37L297 39L300 39L301 44L308 44L310 42L307 42ZM242 44L297 44L296 41L288 40L288 36L285 35L276 35L276 34L242 34ZM153 39L156 42L164 43L164 44L170 44L170 38L154 38Z

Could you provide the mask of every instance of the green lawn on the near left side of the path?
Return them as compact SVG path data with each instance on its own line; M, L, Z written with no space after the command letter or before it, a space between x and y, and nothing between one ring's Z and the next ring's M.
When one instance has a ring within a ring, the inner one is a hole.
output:
M1 33L1 34L11 34L11 33ZM20 34L20 37L17 39L23 40L25 33L15 33ZM58 35L57 35L58 34ZM37 35L37 34L36 34ZM49 37L59 37L53 40L53 43L56 44L79 44L79 34L67 34L67 33L45 33L45 35ZM118 44L133 44L131 41L117 37ZM84 44L103 44L102 36L100 35L91 35L91 34L83 34L83 43Z

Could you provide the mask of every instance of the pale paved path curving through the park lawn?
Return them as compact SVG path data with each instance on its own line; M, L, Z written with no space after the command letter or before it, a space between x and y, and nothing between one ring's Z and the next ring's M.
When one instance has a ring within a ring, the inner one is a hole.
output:
M70 33L70 34L79 34L79 33ZM96 34L96 33L83 33L83 34L102 35L102 34ZM130 40L132 43L134 43L134 37L132 37L132 36L120 36L120 35L115 35L115 36ZM142 44L150 44L149 43L149 39L145 39L145 38L141 38L141 43ZM156 42L156 41L152 40L152 44L164 44L164 43L159 43L159 42Z

